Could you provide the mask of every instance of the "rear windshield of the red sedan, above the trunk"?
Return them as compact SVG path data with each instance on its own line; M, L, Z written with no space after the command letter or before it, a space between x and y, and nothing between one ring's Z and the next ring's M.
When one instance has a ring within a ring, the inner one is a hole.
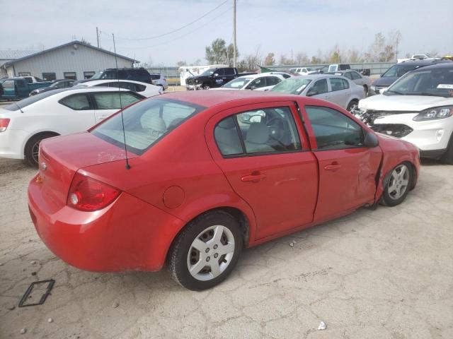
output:
M185 120L205 107L168 99L149 99L123 111L124 135L121 114L115 114L91 130L93 135L137 155L142 155L152 145L176 129Z

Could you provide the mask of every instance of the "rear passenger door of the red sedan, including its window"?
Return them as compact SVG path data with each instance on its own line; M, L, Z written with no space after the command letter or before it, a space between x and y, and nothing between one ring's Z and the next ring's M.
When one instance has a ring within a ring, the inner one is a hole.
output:
M255 239L313 220L316 159L292 102L228 109L205 133L214 161L256 215Z

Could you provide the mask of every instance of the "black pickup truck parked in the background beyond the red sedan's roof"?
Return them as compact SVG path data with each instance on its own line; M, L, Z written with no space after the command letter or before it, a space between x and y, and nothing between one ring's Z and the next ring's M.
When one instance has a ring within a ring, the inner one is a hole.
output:
M256 73L238 73L234 67L222 67L207 69L200 76L190 76L185 79L186 90L209 90L210 88L222 87L229 81L239 76L248 76Z

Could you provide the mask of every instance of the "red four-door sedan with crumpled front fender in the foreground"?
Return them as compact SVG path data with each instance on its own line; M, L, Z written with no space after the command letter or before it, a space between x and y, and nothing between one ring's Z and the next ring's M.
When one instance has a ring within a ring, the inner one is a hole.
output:
M243 246L401 203L420 167L411 143L336 105L239 90L138 102L43 141L39 159L30 215L56 256L93 271L167 265L190 290L224 280Z

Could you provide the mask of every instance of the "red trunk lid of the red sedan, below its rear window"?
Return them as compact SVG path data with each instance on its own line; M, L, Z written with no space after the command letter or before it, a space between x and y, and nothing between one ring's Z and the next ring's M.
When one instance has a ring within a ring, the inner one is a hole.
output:
M133 153L127 155L137 157ZM88 132L46 139L40 143L42 193L55 208L62 208L66 205L69 187L78 169L124 159L124 149Z

